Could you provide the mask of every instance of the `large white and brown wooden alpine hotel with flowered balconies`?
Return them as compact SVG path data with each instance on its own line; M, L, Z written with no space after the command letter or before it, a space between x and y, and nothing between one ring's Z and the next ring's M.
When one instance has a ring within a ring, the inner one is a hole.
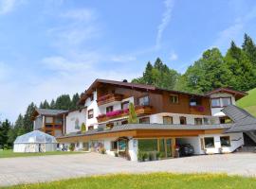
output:
M131 161L137 161L141 151L174 158L176 146L184 144L192 145L194 154L229 153L244 145L243 131L229 130L237 117L251 116L234 106L245 95L229 88L190 94L96 79L82 94L80 110L37 109L34 129L55 135L60 148L103 148ZM135 105L138 124L128 124L130 103ZM82 124L86 131L81 131Z

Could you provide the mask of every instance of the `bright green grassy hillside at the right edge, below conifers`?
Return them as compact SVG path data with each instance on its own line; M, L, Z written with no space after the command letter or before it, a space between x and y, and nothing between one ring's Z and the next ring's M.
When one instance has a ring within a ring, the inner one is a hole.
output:
M256 88L247 92L248 95L237 101L237 106L256 116Z

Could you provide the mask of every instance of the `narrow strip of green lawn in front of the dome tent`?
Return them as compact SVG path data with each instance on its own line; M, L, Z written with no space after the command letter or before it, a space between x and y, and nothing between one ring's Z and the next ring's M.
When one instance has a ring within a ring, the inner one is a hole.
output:
M75 154L82 152L74 151L49 151L46 153L14 153L12 149L0 150L0 158L16 158L16 157L27 157L27 156L46 156L46 155L62 155L62 154Z

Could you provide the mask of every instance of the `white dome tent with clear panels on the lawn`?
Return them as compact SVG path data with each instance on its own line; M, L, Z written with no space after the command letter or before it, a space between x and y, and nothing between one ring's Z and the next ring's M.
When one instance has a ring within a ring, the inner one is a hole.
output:
M34 130L16 138L13 152L46 152L56 149L57 141L54 136Z

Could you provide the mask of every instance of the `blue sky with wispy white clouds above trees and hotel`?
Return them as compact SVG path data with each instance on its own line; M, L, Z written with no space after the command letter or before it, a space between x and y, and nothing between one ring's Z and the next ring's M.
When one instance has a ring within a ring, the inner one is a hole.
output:
M184 73L206 49L256 41L255 25L254 0L0 0L0 120L157 57Z

